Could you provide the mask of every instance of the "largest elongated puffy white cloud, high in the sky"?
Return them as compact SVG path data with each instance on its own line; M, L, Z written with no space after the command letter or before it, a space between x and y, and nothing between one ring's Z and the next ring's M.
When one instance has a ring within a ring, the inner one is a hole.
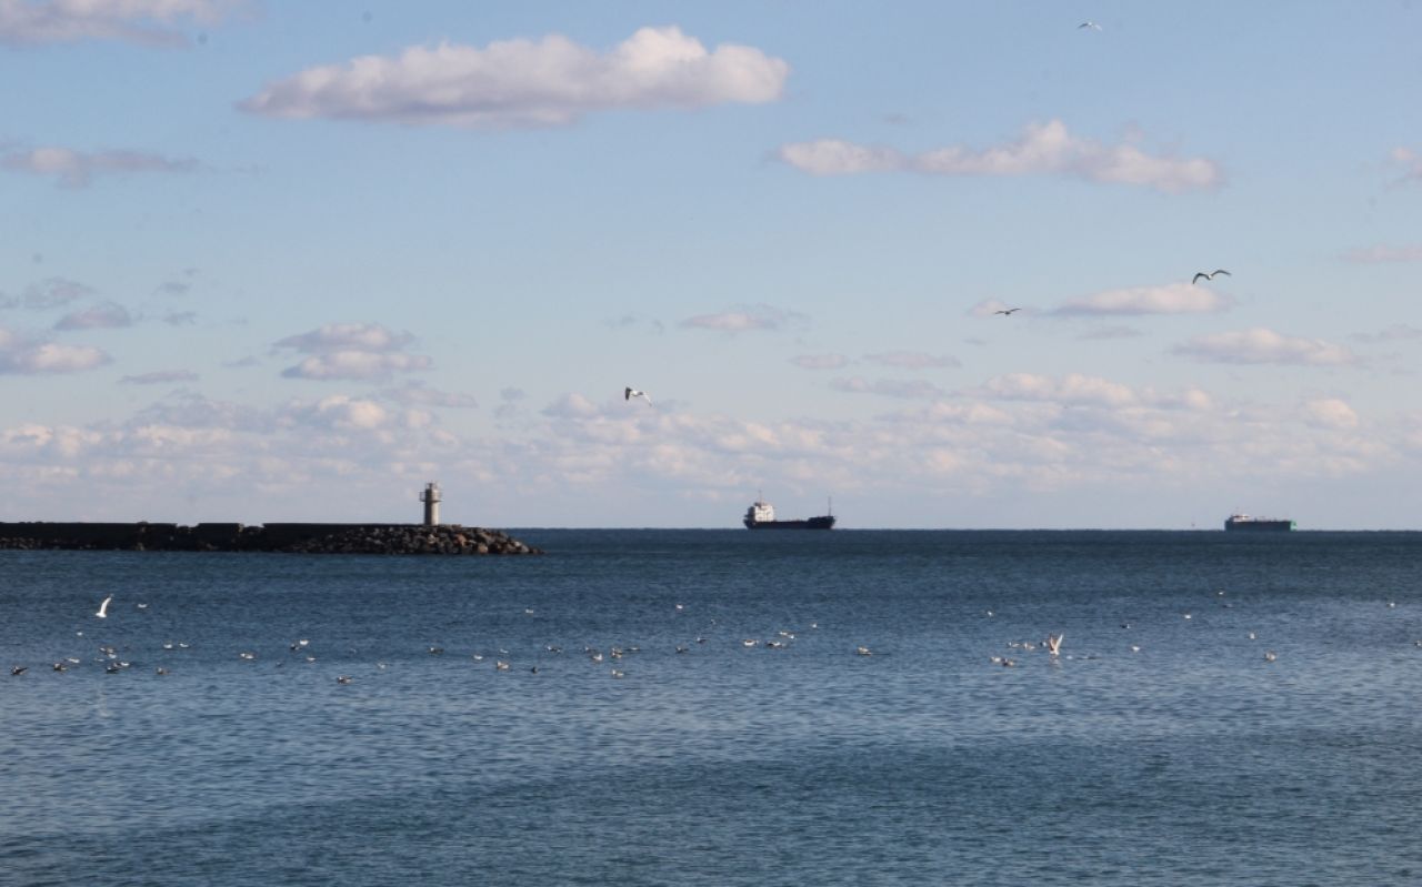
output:
M606 53L562 36L442 43L309 68L240 104L283 118L516 128L610 108L700 108L779 98L789 65L761 50L707 50L677 27L644 27Z

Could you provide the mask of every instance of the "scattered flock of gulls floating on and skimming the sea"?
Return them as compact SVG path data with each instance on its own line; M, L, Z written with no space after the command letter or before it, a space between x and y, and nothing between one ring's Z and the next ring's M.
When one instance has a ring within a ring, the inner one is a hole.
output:
M1216 591L1216 596L1220 597L1220 598L1223 598L1224 597L1224 591ZM107 620L108 618L108 608L109 608L109 604L112 601L114 601L114 596L112 594L109 594L108 597L105 597L104 601L100 604L98 610L94 613L94 618ZM1233 604L1221 601L1221 606L1226 607L1226 608L1230 608ZM1388 607L1389 608L1396 607L1396 601L1388 601ZM134 604L134 608L138 610L138 611L146 611L148 610L148 604L145 604L145 603L137 603L137 604ZM683 610L685 610L685 604L677 604L675 608L677 608L678 613L681 613ZM526 615L533 615L533 610L532 608L526 608L523 613ZM991 618L995 614L994 614L993 610L985 610L983 613L983 615ZM1192 613L1183 613L1182 615L1183 615L1185 620L1194 618ZM715 620L712 620L712 624L714 623L715 623ZM809 624L809 630L811 631L815 631L818 628L819 628L819 623L811 623ZM1130 623L1122 623L1121 628L1130 630ZM77 634L78 634L78 637L84 637L84 631L78 631ZM796 638L795 631L782 630L782 631L778 631L776 637L771 638L771 640L744 638L744 640L741 640L741 645L742 647L748 647L748 648L764 647L764 648L768 648L768 650L784 650L792 641L795 641L795 638ZM708 638L705 635L698 635L695 638L695 643L697 644L705 644ZM1034 652L1034 651L1038 651L1038 650L1045 651L1047 655L1049 657L1049 661L1052 664L1057 664L1057 662L1059 662L1061 658L1068 658L1068 660L1072 658L1071 655L1062 657L1062 641L1064 640L1065 640L1065 633L1058 633L1058 634L1048 634L1041 641L1010 641L1007 644L1007 647L1008 647L1010 651L1012 651L1014 655L1030 654L1030 652ZM1258 640L1257 634L1254 631L1250 631L1249 633L1249 640L1250 641ZM1422 647L1422 640L1413 641L1413 644L1416 647ZM290 644L290 651L293 654L300 655L301 660L306 661L306 662L314 662L316 657L309 651L309 645L310 645L310 640L300 638L300 640L296 640L296 641L293 641ZM164 651L181 651L181 650L188 650L189 644L186 644L186 643L166 641L166 643L162 644L162 648L164 648ZM543 650L547 654L562 654L563 652L563 648L559 647L559 645L556 645L556 644L547 644L547 645L543 647ZM688 652L690 650L691 650L691 647L688 644L677 644L677 647L675 647L675 651L678 654ZM104 664L104 671L107 671L108 674L124 672L124 671L127 671L132 665L131 662L122 660L119 657L119 650L115 648L111 644L101 645L98 648L98 651L102 654L102 657L98 661ZM610 647L606 652L603 652L602 650L594 648L594 647L584 647L583 648L583 654L594 665L600 665L600 664L603 664L603 662L606 662L606 661L610 660L613 662L611 670L610 670L610 674L611 674L613 678L624 678L624 677L627 677L627 672L623 671L621 668L619 668L617 662L623 657L626 657L627 654L634 654L634 652L638 652L638 651L640 651L640 648L634 647L634 645L629 645L629 647ZM429 652L431 655L442 655L444 654L444 647L431 645L431 647L427 647L427 652ZM1140 645L1139 644L1130 644L1130 652L1140 652ZM875 651L870 650L869 647L857 645L857 647L855 647L855 655L872 657L872 655L875 655ZM506 657L509 657L509 651L508 650L499 650L496 652L496 655L493 655L493 668L495 668L495 671L510 671L513 668L510 660L506 658ZM257 654L252 652L252 651L240 651L240 652L237 652L237 658L240 658L243 661L247 661L247 662L252 662L252 661L256 661ZM486 658L489 658L489 657L486 654L482 654L482 652L472 654L472 661L475 661L475 662L483 662ZM1095 657L1092 657L1092 655L1084 655L1082 658L1088 658L1089 660L1089 658L1095 658ZM1264 661L1266 662L1274 662L1277 660L1278 660L1278 654L1276 654L1273 650L1266 650L1264 651ZM1001 665L1004 668L1012 668L1014 665L1017 665L1017 660L1012 658L1011 655L991 655L991 657L988 657L988 661L993 662L994 665ZM71 657L65 657L63 660L55 661L53 664L53 670L63 672L63 671L68 671L71 667L81 665L81 664L82 664L81 658L71 655ZM280 667L280 662L277 665ZM377 668L380 668L380 670L387 668L387 665L388 665L387 662L377 662ZM11 677L20 677L20 675L26 674L28 670L30 670L28 665L13 665L10 668L10 675ZM532 674L538 674L539 667L538 665L530 665L528 668L528 671L532 672ZM159 665L155 670L155 674L159 675L159 677L168 675L169 670L166 667ZM341 675L337 675L337 678L336 678L336 682L337 684L343 684L343 685L351 684L353 681L354 681L354 678L351 675L348 675L348 674L341 674Z

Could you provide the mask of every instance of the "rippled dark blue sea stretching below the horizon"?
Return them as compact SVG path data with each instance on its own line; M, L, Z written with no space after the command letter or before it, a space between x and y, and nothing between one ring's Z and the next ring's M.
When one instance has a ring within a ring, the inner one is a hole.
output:
M515 534L0 552L0 884L1422 883L1422 534Z

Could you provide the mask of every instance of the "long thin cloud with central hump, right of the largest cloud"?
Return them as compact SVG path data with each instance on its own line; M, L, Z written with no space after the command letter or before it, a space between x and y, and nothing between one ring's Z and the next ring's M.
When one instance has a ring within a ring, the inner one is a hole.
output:
M1062 175L1139 185L1167 193L1219 188L1223 173L1204 158L1152 155L1132 142L1102 145L1072 135L1059 119L1031 124L1014 142L974 151L960 145L902 154L840 139L782 145L776 156L812 175L917 172L947 176Z

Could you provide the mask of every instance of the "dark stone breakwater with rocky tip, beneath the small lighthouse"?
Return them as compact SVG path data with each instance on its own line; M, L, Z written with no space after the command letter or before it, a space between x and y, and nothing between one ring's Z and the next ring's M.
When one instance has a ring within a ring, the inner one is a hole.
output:
M293 552L303 554L542 554L502 530L456 523L0 523L0 549Z

